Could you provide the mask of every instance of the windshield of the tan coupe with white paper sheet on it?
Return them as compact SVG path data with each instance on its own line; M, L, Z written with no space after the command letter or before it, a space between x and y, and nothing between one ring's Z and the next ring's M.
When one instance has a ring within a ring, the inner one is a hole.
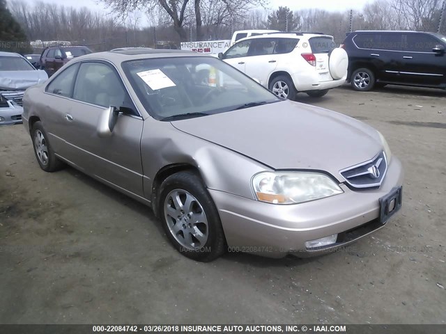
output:
M279 102L278 97L213 57L126 61L139 100L157 120L179 120Z

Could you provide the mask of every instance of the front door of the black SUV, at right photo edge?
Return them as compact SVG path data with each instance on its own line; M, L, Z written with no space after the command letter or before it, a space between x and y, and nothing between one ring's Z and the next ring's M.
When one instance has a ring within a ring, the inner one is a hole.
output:
M401 53L403 81L427 86L444 83L446 56L444 52L434 52L433 48L445 43L427 33L406 33L404 38L404 51Z

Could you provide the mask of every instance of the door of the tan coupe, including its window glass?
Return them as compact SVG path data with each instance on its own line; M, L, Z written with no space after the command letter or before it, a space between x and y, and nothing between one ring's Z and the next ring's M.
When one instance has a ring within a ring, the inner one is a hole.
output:
M118 189L143 196L140 141L144 120L116 69L101 61L82 62L72 100L62 129L72 147L72 161ZM109 106L125 107L129 112L118 116L112 136L101 138L98 119Z

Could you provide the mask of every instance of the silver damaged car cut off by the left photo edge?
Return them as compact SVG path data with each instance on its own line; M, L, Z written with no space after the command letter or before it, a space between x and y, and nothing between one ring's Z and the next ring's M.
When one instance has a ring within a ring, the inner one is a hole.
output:
M24 90L46 79L20 54L0 51L0 125L21 123Z

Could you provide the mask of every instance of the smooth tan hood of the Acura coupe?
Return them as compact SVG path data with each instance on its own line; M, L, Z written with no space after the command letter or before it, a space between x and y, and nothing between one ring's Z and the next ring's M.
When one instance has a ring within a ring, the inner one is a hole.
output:
M177 120L172 125L273 169L325 170L338 178L339 170L383 150L378 132L369 125L291 101Z

